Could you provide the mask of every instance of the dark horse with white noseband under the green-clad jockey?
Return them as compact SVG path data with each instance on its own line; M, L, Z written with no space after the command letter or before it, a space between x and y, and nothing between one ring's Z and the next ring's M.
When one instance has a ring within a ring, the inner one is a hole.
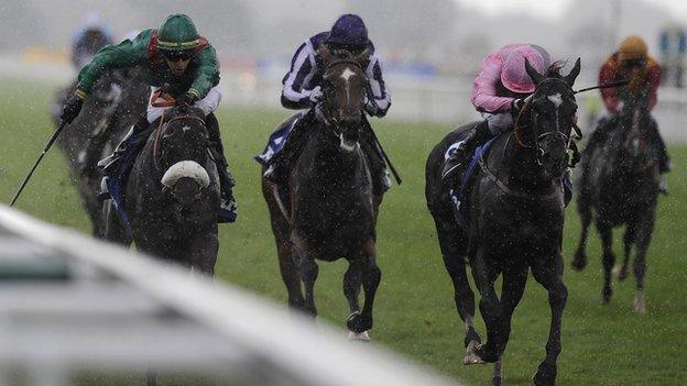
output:
M217 168L203 111L163 115L134 161L123 195L131 233L112 200L105 203L106 239L212 275L217 260Z

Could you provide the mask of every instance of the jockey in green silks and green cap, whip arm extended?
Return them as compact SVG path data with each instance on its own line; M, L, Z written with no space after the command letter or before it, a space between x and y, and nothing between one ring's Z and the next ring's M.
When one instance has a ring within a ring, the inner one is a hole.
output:
M164 85L165 91L176 99L177 106L193 106L206 114L205 123L210 140L210 152L217 163L221 191L220 222L233 222L237 216L232 194L233 177L219 135L219 123L212 111L219 106L219 64L215 48L198 35L190 18L185 14L167 16L159 30L144 30L135 38L100 49L78 75L75 93L65 102L62 119L72 122L81 110L84 99L103 70L110 68L141 67L143 81L153 89ZM149 128L163 115L163 108L149 104L146 117L133 125L115 153L99 163L106 178L113 176L124 158L138 153L149 135Z

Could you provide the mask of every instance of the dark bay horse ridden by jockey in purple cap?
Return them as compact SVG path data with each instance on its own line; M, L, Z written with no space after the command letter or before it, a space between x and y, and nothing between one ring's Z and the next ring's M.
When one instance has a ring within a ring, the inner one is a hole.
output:
M362 64L369 52L335 58L325 49L321 57L327 63L324 100L310 111L309 136L290 172L288 199L282 201L276 187L265 179L263 195L288 305L315 317L315 260L345 257L349 262L344 277L351 312L349 337L368 340L381 278L375 263L375 222L382 199L373 195L370 166L359 143L367 86ZM361 285L362 311L358 304Z

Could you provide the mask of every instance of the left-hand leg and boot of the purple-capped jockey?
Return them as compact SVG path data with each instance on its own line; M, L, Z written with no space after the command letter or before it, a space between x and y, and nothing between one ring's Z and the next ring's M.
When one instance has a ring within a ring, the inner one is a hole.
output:
M291 129L286 143L282 151L272 157L270 166L262 177L271 183L282 185L288 179L288 170L295 159L301 155L303 145L307 140L309 114L303 115Z

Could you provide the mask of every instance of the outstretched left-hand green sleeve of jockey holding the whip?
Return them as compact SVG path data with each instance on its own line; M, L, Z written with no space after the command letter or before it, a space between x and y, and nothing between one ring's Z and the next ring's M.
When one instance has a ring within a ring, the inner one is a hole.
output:
M77 95L86 97L92 90L100 75L110 68L133 67L148 60L148 43L151 30L141 32L135 40L126 40L117 45L107 45L79 71Z

